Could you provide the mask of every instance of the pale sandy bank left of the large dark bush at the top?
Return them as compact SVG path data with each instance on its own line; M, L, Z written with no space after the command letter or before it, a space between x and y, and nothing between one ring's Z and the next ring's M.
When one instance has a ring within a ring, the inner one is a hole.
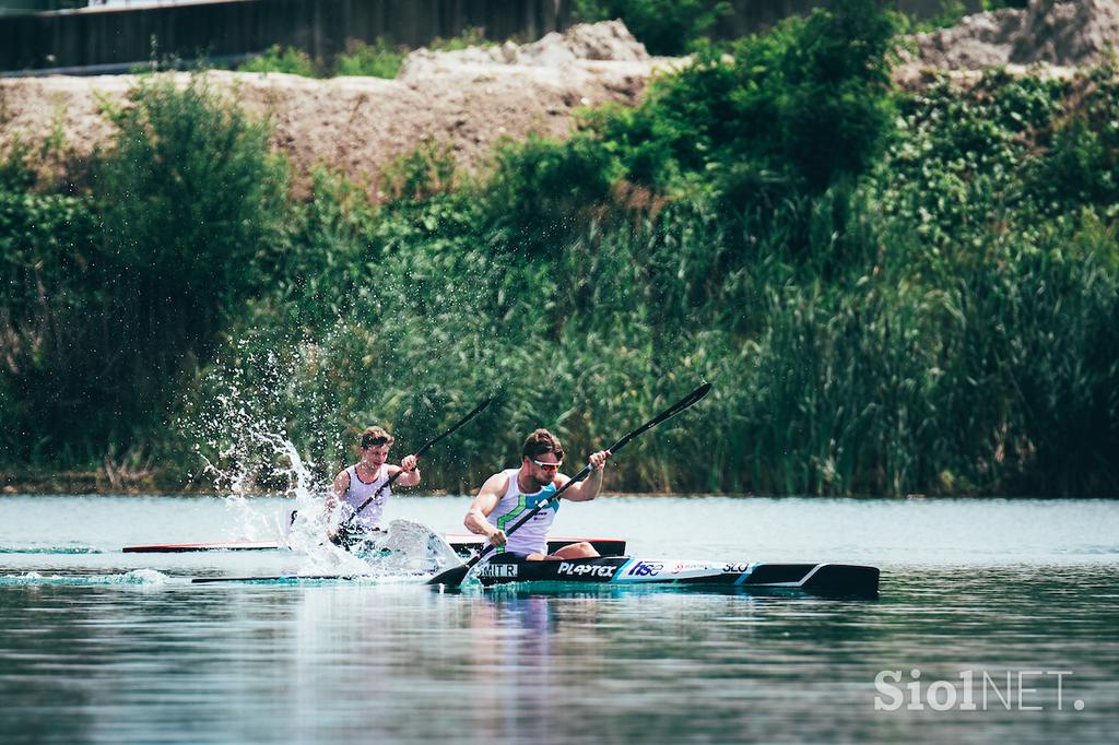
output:
M675 63L650 58L621 22L609 21L523 46L421 49L395 81L222 70L207 79L271 119L274 144L297 172L328 163L376 185L385 164L429 138L449 143L459 163L473 168L504 135L565 136L572 110L636 104L652 72ZM0 149L16 136L38 143L60 130L85 157L113 134L100 100L119 101L134 83L129 75L0 79Z

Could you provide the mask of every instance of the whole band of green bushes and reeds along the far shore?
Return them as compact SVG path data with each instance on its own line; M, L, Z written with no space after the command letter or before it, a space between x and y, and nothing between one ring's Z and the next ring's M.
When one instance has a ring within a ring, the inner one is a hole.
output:
M859 0L698 44L481 173L425 143L380 204L297 198L265 124L149 76L92 162L0 168L0 471L201 488L241 447L282 488L267 433L326 474L355 427L403 454L495 395L425 463L462 492L534 426L576 458L708 379L611 489L1115 496L1116 65L902 91L895 31Z

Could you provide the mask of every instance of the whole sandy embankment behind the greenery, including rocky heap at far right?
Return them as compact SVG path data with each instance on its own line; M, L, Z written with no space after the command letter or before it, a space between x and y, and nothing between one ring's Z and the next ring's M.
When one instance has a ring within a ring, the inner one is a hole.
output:
M1103 59L1119 43L1119 0L1032 0L913 37L895 70L920 85L929 68L974 70L1049 66L1066 75ZM477 167L502 136L564 136L572 112L609 101L636 104L657 69L686 64L652 58L620 21L575 26L539 41L454 53L421 49L396 79L213 72L215 89L266 115L274 144L297 173L317 163L340 168L375 192L382 169L425 139L451 147L460 166ZM967 78L967 73L961 73ZM0 79L0 151L15 138L38 143L62 134L78 159L112 136L102 100L120 100L129 75Z

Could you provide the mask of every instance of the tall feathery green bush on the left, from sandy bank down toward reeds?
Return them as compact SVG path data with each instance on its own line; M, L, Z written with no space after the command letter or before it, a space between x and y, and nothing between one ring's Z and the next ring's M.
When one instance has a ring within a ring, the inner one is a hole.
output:
M261 287L281 248L286 170L266 126L204 77L156 77L130 98L107 112L120 132L95 171L109 308L90 319L105 324L105 362L86 385L112 396L123 426L144 426Z

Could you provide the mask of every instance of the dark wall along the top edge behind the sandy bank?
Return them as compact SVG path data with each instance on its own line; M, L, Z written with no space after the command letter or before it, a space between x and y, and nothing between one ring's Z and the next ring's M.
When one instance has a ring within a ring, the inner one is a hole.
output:
M891 4L927 17L942 2L894 0ZM969 8L980 3L965 1ZM734 13L713 31L734 38L821 4L826 3L732 0ZM168 55L186 60L200 56L238 59L273 44L330 57L347 39L385 37L419 47L474 27L482 28L489 39L533 40L566 28L572 6L572 0L218 0L8 16L0 17L0 72L125 72L152 59L153 51L160 59Z

